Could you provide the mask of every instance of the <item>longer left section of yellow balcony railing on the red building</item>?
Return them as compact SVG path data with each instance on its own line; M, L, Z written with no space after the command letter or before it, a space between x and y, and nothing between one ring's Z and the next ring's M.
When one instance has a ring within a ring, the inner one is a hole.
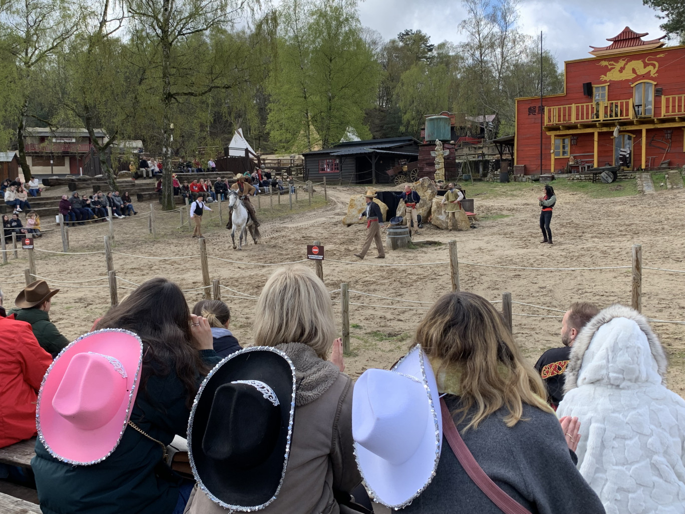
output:
M595 121L635 119L635 117L632 98L545 107L545 125L593 123Z

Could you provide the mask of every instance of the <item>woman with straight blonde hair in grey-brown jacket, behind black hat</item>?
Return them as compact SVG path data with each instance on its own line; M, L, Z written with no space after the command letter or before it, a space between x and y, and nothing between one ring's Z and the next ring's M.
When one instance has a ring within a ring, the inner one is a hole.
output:
M341 371L342 341L333 339L330 295L306 267L277 269L264 285L256 312L255 345L284 352L296 377L285 476L275 500L260 513L338 514L336 498L347 500L361 477L353 456L352 380ZM327 360L332 350L337 364ZM189 514L226 512L197 487L188 505Z

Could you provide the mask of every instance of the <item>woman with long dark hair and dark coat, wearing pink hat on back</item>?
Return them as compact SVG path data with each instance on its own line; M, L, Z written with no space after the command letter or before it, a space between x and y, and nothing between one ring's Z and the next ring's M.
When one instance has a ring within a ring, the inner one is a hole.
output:
M142 370L129 426L100 463L54 458L38 441L32 469L44 513L182 513L192 485L164 461L175 435L186 437L192 400L219 357L203 317L190 314L177 284L153 278L112 307L97 329L122 328L143 343ZM132 425L135 425L134 428Z

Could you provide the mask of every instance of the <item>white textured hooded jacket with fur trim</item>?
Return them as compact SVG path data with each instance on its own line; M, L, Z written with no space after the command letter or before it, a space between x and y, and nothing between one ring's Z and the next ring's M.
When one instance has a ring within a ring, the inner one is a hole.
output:
M685 512L685 400L647 319L612 305L578 334L557 414L580 419L578 469L607 514Z

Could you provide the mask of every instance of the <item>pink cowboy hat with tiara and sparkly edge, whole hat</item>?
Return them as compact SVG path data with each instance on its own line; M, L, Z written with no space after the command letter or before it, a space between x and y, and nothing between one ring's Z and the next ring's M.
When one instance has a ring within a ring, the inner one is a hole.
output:
M73 341L55 358L38 393L38 438L60 461L107 458L128 424L142 364L133 332L105 328Z

